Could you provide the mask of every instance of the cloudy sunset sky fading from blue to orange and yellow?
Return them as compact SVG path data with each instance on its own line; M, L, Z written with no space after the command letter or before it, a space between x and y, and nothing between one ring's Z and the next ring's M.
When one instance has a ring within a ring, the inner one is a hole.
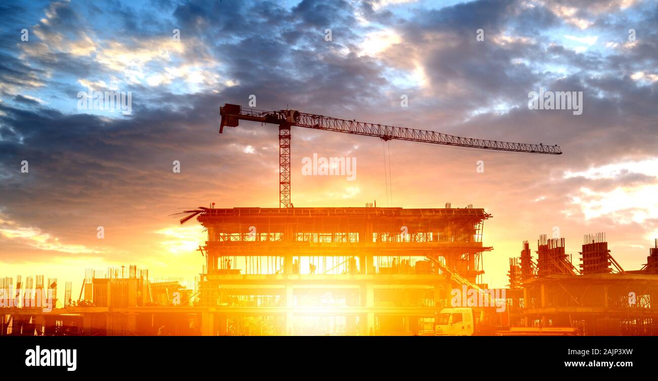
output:
M627 270L658 238L655 1L30 1L0 17L0 276L70 280L75 298L88 267L193 279L204 235L172 213L278 207L276 126L218 134L220 105L250 95L263 110L560 145L389 143L393 206L492 213L492 286L554 227L576 266L584 234L606 232ZM132 113L78 109L89 88L130 91ZM540 88L582 91L583 113L528 109ZM355 180L302 176L314 153L355 157ZM385 181L382 141L293 128L295 207L386 206Z

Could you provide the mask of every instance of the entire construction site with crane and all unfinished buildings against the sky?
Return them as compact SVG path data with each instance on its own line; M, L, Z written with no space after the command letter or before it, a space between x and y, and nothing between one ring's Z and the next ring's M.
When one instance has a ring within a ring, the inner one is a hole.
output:
M510 259L508 287L490 290L482 282L483 257L493 247L483 238L493 216L485 209L291 202L292 126L549 155L561 154L557 145L229 104L221 115L220 132L240 120L278 126L280 207L212 203L175 213L181 224L195 219L207 232L194 256L203 269L193 288L152 281L135 266L88 270L78 298L67 283L61 307L55 301L49 309L39 301L57 297L56 279L5 278L0 289L13 301L0 309L0 335L658 336L658 240L644 267L624 270L605 234L584 237L576 265L563 238L540 236L534 255L524 241L520 256ZM455 303L455 290L473 298Z

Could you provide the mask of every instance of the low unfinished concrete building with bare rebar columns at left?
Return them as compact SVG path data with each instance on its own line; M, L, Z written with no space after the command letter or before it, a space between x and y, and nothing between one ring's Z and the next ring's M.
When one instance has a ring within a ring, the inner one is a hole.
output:
M200 335L207 309L188 301L191 290L178 282L151 282L148 270L129 267L86 270L76 301L53 299L46 308L45 296L57 295L57 280L44 289L43 276L20 278L13 288L11 278L0 279L0 290L15 295L12 305L0 309L0 336L126 336ZM65 295L70 295L68 291ZM178 295L174 295L174 293ZM180 299L178 299L180 297Z

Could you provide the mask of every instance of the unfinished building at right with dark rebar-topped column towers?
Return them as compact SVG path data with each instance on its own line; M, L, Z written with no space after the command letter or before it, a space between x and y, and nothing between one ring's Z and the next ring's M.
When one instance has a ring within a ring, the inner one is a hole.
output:
M624 270L605 234L584 237L580 265L565 254L565 240L537 242L537 261L524 241L510 260L513 319L524 326L571 326L584 335L658 336L658 240L640 270Z

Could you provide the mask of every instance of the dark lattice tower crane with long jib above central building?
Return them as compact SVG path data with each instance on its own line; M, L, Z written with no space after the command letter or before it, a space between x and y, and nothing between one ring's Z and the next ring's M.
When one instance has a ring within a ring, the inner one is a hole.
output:
M457 147L470 147L476 149L492 149L495 151L511 151L523 153L542 153L548 155L561 155L562 151L558 145L512 143L510 141L484 140L476 138L461 138L441 132L428 130L415 130L413 128L402 128L357 122L356 120L345 120L322 116L316 114L300 113L296 110L261 111L232 105L226 103L220 107L219 133L224 132L224 127L237 127L240 120L251 120L263 124L276 124L279 127L279 207L289 208L290 202L290 130L292 126L303 128L315 128L343 132L345 134L356 134L374 136L384 141L408 140L421 143L434 143L442 145L455 145Z

